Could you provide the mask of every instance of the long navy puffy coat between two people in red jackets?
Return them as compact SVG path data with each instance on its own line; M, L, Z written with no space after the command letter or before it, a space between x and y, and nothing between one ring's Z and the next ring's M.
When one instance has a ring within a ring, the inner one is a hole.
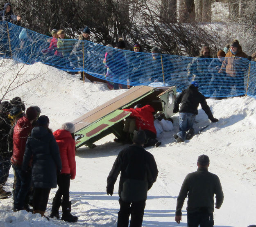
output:
M36 188L56 188L57 172L61 171L59 147L47 128L37 126L27 138L22 169L28 169L32 162L32 182Z

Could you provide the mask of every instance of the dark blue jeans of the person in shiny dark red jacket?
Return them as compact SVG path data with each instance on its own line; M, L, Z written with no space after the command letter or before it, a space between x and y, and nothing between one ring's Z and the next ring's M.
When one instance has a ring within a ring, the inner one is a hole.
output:
M20 166L13 165L16 174L16 186L14 189L14 209L22 209L24 207L25 198L31 187L31 169L27 172L22 171Z

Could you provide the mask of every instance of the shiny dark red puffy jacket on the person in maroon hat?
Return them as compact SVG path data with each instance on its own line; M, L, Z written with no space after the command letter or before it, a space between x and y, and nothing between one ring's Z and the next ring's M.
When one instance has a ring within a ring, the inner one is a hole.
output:
M21 166L23 162L23 155L25 152L27 137L32 130L32 124L27 117L21 117L18 119L14 127L13 143L14 150L11 157L11 163L17 166Z

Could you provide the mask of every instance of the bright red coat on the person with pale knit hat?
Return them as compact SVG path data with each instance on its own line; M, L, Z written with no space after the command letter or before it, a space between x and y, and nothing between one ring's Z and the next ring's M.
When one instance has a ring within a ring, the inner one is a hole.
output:
M62 162L61 173L70 174L70 179L73 180L76 174L75 140L69 131L63 129L56 130L53 135L59 145Z

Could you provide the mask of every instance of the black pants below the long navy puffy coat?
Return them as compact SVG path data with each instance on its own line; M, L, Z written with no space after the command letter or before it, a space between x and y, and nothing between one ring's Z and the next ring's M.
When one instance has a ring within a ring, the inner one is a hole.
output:
M51 189L34 188L33 209L45 211Z

